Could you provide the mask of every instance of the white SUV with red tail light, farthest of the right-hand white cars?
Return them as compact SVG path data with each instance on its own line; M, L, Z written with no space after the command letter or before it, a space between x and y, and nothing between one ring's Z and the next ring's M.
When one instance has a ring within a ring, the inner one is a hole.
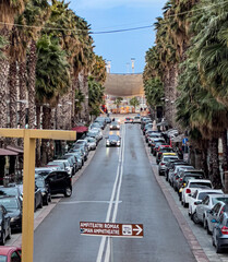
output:
M196 189L212 189L212 182L208 179L190 179L187 182L185 188L183 188L181 194L181 204L187 207L190 202L191 195L195 192Z

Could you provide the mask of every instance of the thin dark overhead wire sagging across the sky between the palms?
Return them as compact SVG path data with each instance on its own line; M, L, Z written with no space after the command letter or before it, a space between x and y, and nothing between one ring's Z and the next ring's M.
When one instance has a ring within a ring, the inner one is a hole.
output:
M185 11L185 12L180 12L180 13L177 13L177 14L170 14L170 15L167 15L165 19L171 19L171 17L176 17L178 15L193 13L193 12L196 12L196 11L206 10L208 8L217 7L218 4L226 4L226 3L228 3L228 1L209 4L209 5L206 5L206 7L203 7L203 8L199 8L199 9L194 9L194 10L190 10L190 11ZM190 17L194 17L194 15L192 15ZM144 29L144 28L153 27L153 25L145 25L145 26L140 26L140 27L115 29L115 31L89 32L89 29L79 29L79 28L67 29L67 28L61 28L61 27L43 27L43 26L12 24L12 23L4 23L4 22L0 22L0 24L1 25L11 25L11 26L16 26L16 27L25 27L25 28L36 28L36 29L45 28L45 29L50 29L50 31L52 29L52 31L62 31L62 32L74 32L74 33L76 33L76 32L82 32L82 33L83 32L88 32L92 35L121 33L121 32L137 31L137 29ZM80 33L76 33L76 34L80 34Z

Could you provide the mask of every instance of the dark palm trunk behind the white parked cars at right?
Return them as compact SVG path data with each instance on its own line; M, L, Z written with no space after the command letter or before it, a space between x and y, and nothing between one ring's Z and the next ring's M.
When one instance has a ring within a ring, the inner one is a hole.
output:
M218 139L212 139L209 141L209 179L215 189L221 188L218 162Z

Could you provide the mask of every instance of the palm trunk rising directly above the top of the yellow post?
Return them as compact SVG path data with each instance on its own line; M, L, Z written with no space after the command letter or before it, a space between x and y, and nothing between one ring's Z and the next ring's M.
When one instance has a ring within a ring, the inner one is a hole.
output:
M35 93L36 93L36 43L32 40L29 57L28 57L28 127L29 129L35 128L36 119L36 104L35 104Z

